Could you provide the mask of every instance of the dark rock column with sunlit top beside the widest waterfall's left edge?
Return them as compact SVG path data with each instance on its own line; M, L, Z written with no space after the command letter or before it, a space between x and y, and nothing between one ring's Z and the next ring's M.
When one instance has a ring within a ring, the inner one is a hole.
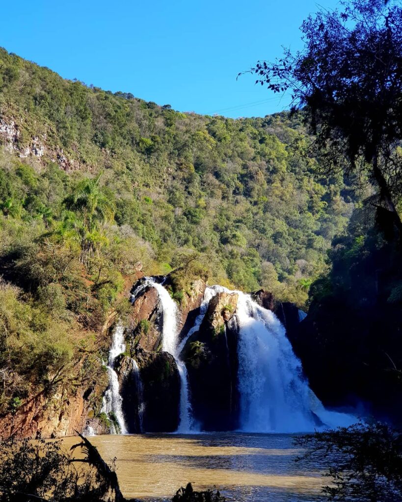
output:
M192 408L203 430L233 430L238 426L237 300L236 293L217 294L199 331L183 349Z

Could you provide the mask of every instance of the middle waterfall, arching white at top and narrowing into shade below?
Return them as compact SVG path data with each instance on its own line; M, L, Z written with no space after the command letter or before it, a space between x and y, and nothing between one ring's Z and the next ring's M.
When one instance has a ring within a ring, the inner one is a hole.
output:
M162 307L163 328L162 328L162 349L171 354L177 364L180 376L180 421L177 432L194 431L194 422L192 418L192 409L189 399L188 374L184 361L180 359L181 345L178 339L178 309L176 302L171 298L168 291L155 282L152 277L145 278L145 281L132 295L132 302L147 287L151 286L158 292ZM139 291L140 290L140 291Z

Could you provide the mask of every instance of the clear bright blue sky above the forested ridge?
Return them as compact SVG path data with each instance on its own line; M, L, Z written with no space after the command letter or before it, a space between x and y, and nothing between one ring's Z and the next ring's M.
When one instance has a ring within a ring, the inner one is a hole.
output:
M239 71L300 47L299 26L338 0L2 2L0 46L65 78L180 111L264 116L287 108Z

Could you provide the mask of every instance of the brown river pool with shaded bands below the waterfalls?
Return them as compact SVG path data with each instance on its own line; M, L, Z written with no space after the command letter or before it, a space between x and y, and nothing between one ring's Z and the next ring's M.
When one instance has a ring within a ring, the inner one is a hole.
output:
M300 453L288 434L144 434L88 438L107 461L116 457L124 495L169 500L188 481L216 485L236 502L317 502L320 467L294 462ZM69 445L76 438L64 440Z

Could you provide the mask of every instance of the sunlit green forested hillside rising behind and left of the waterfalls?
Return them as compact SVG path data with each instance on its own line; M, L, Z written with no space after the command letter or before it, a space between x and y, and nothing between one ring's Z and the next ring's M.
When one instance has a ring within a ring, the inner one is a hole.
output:
M179 302L197 275L302 307L353 208L310 141L299 115L180 113L1 49L0 411L98 382L98 333L140 269L176 270Z

